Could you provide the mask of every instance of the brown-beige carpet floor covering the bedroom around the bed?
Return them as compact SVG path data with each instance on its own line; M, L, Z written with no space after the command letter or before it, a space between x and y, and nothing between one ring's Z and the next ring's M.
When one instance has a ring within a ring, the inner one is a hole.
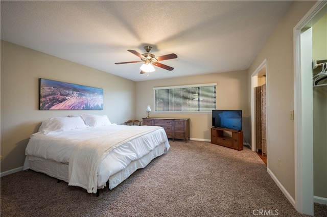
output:
M1 216L307 216L294 209L247 147L170 145L117 187L101 189L98 198L31 170L4 176ZM327 216L327 206L318 206L315 216Z

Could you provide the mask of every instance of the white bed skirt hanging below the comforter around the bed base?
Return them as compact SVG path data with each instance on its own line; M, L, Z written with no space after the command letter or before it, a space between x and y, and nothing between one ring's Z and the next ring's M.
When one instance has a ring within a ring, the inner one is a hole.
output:
M165 143L161 143L152 151L139 158L131 161L124 169L109 177L109 188L112 189L127 179L137 169L145 168L152 159L164 154ZM56 162L53 160L46 160L40 157L27 156L24 163L23 170L31 169L35 172L44 173L48 176L57 178L68 183L68 165ZM98 189L104 188L106 184L98 186Z

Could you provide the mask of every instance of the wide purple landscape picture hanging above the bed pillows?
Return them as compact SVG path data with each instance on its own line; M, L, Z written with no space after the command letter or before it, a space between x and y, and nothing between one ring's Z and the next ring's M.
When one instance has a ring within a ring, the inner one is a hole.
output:
M103 89L40 78L39 110L103 110Z

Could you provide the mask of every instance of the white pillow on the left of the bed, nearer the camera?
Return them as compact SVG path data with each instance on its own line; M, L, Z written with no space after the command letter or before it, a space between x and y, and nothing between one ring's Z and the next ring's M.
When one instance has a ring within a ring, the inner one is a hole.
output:
M51 132L51 131L67 131L72 129L86 128L83 119L78 117L54 117L43 121L39 131Z

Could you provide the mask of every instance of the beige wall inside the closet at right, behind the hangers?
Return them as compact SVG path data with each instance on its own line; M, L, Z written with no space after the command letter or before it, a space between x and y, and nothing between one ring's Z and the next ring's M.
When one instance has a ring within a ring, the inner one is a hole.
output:
M327 14L312 26L312 56L327 61ZM318 67L315 72L320 72ZM325 80L324 83L327 83ZM314 196L327 198L327 86L313 88Z

